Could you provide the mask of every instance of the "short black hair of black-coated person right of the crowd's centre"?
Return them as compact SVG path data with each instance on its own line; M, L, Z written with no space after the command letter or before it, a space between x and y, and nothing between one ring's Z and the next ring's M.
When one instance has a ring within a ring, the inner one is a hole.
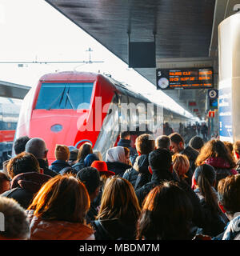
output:
M158 149L149 154L148 161L152 170L170 170L172 156L169 150Z

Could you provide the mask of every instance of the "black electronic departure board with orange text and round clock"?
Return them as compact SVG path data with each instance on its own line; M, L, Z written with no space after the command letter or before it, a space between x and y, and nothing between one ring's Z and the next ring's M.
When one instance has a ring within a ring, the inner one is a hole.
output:
M213 69L179 69L166 70L157 69L157 89L193 89L193 88L212 88Z

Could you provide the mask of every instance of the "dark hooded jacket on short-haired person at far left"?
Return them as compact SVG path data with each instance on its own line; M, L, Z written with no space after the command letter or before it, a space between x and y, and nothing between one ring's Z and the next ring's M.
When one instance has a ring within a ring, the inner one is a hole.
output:
M23 208L28 208L34 194L47 182L50 176L30 172L16 175L11 182L11 189L1 194L6 198L14 198Z

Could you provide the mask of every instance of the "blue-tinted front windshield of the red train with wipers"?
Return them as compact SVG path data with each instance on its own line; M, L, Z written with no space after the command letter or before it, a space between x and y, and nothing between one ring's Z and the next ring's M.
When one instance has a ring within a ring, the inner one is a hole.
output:
M93 82L42 83L35 109L89 109Z

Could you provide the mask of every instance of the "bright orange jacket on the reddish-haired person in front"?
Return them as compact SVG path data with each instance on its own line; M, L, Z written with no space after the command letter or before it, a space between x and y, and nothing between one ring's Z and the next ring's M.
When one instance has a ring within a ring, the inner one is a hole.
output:
M45 220L26 210L30 222L30 240L86 240L94 234L90 227L76 222Z

